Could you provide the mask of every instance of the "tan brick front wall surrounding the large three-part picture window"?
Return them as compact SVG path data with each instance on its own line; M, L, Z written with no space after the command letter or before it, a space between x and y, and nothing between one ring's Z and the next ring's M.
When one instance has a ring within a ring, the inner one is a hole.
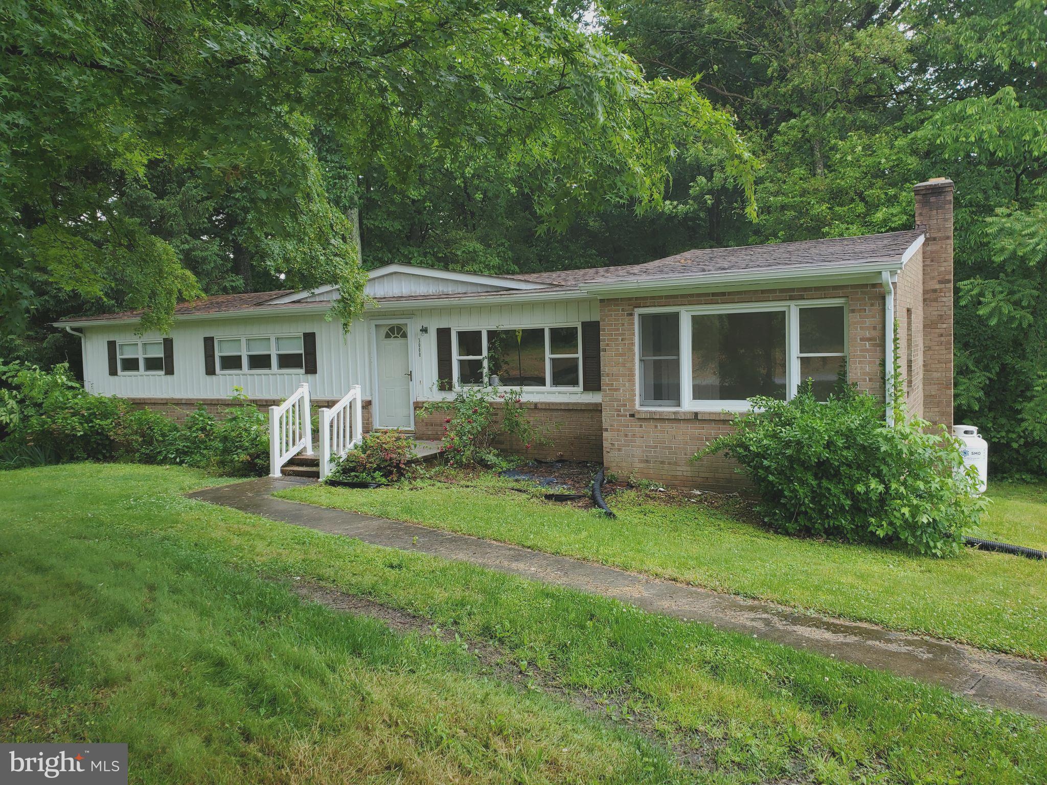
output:
M723 455L710 455L699 463L690 461L711 440L727 432L731 414L638 409L636 309L827 297L847 298L850 381L883 397L885 297L879 285L601 300L603 461L607 470L623 478L651 479L680 488L736 491L745 487L745 479L735 472L736 465Z

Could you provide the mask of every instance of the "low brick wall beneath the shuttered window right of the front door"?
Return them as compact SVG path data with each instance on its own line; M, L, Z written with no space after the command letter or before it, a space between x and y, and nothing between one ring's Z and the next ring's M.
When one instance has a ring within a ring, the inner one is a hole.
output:
M415 404L415 435L418 439L443 439L445 414L422 416L424 403ZM603 459L603 421L600 404L592 402L525 402L528 420L549 440L547 445L532 445L519 440L498 439L494 446L516 455L572 461ZM495 409L500 408L495 404Z

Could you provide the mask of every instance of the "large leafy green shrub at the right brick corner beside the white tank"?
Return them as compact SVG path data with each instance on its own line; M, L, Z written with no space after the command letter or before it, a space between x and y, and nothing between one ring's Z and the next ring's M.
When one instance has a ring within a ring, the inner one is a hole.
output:
M945 556L981 516L977 481L944 428L900 413L888 425L883 404L853 389L825 403L809 386L788 402L752 403L693 459L725 451L741 464L780 532Z

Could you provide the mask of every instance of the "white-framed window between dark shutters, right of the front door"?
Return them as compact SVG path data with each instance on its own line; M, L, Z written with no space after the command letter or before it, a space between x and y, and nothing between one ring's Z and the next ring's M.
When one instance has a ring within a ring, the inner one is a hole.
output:
M578 389L581 327L495 328L455 332L455 386L484 384Z

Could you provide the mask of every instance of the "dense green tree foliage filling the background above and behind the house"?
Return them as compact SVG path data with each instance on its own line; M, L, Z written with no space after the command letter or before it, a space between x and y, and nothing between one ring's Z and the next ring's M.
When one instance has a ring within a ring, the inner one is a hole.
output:
M355 291L357 239L364 267L629 264L907 228L948 176L957 420L1047 474L1042 0L549 8L6 4L0 352L75 361L47 320L162 327L281 273Z

